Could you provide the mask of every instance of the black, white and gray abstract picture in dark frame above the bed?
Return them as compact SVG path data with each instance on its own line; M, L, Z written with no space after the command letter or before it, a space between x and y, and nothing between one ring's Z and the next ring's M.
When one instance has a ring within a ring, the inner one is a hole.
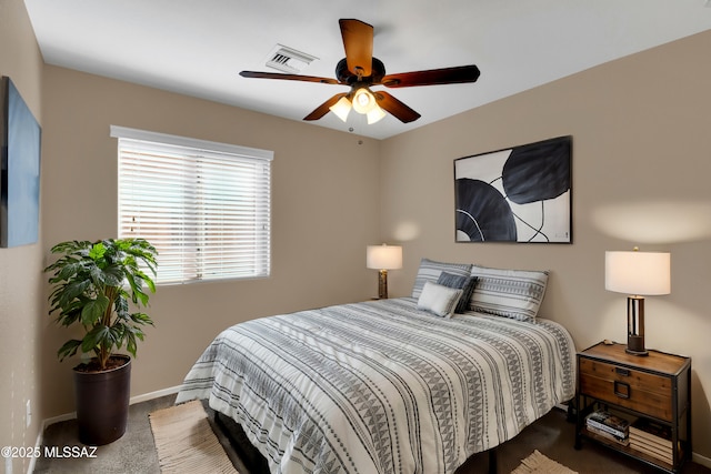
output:
M454 160L457 242L572 243L572 137Z

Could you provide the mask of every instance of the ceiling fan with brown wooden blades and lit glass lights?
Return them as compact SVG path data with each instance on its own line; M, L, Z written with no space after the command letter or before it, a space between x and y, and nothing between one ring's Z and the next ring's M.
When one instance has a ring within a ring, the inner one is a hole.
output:
M385 74L385 67L373 58L373 27L360 20L341 19L341 37L346 58L336 65L336 78L283 74L277 72L242 71L243 78L282 79L289 81L320 82L324 84L349 85L346 93L338 93L309 113L303 120L319 120L329 110L346 121L352 109L368 117L374 123L390 112L403 123L412 122L420 114L384 91L371 91L372 85L387 88L409 88L414 85L437 85L474 82L479 78L475 65L430 69L425 71ZM384 110L384 111L383 111Z

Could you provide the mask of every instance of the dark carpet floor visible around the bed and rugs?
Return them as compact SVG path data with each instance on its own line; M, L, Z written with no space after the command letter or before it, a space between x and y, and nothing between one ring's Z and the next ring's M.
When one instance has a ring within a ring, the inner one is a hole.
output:
M149 413L171 406L174 395L163 396L131 405L127 433L120 440L100 446L96 457L40 457L36 474L159 474L158 455L149 423ZM210 410L208 410L211 413ZM212 416L210 416L212 424ZM213 430L234 467L242 474L261 474L246 466L234 450L229 446L222 431L213 424ZM584 443L580 451L573 447L574 424L567 421L565 413L553 410L541 420L527 427L515 438L502 444L498 450L499 473L510 473L521 464L521 460L535 450L580 474L658 474L652 467L614 453L592 443ZM73 420L56 423L44 431L44 446L82 446L77 437ZM457 474L484 474L489 465L485 453L472 456ZM682 474L711 474L711 470L697 463L687 463Z

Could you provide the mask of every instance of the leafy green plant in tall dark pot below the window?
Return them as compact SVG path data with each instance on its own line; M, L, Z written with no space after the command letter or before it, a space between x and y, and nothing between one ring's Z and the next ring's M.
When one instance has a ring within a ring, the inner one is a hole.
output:
M70 339L57 352L60 361L81 351L74 367L74 395L79 440L89 445L111 443L126 433L131 357L136 356L150 316L148 306L156 284L156 249L143 239L106 239L62 242L51 249L58 260L44 269L50 314L62 326L80 327L81 339ZM132 309L134 311L132 311Z

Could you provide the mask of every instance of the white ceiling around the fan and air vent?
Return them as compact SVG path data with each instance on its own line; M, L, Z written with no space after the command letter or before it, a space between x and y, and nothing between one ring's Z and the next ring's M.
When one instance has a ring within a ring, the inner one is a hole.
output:
M477 64L475 83L390 89L422 118L314 125L383 139L711 29L711 0L24 0L44 61L301 120L343 85L246 79L280 43L333 78L338 20L374 27L388 73ZM701 59L700 59L701 60ZM705 58L704 60L709 60ZM660 64L663 68L664 64ZM374 89L382 88L377 87Z

